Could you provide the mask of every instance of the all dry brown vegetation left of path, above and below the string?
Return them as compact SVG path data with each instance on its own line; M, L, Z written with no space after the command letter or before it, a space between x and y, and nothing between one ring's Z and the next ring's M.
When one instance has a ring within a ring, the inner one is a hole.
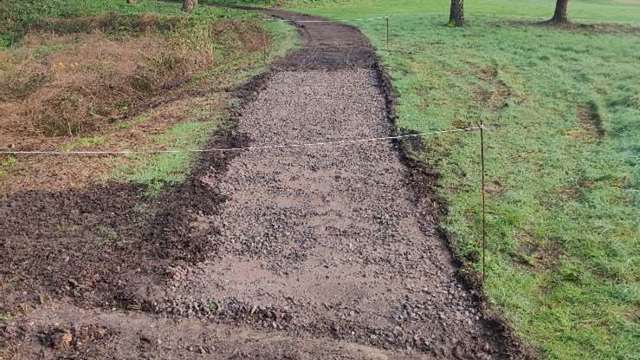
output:
M194 108L221 111L222 97L212 94L253 65L263 29L187 21L106 15L34 26L19 47L0 51L0 149L148 149L153 134L191 120ZM81 184L114 164L18 160L0 173L2 192Z

